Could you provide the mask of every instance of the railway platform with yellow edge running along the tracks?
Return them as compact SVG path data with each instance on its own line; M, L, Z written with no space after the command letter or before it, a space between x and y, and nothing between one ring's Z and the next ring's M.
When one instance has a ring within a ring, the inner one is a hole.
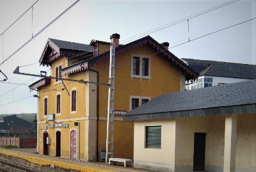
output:
M63 159L61 157L51 157L49 155L40 155L35 153L36 149L3 149L0 148L0 154L26 159L32 164L40 166L58 167L74 171L138 171L146 170L136 168L124 168L123 166L111 166L105 162L84 162L72 159Z

